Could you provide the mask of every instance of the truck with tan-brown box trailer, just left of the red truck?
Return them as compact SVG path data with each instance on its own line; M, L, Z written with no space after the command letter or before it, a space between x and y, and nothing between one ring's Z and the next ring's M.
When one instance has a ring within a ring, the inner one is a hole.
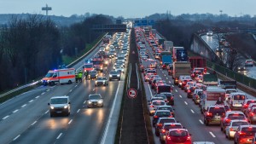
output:
M174 84L177 84L179 76L190 75L190 71L191 71L190 62L187 62L187 61L173 62L172 78L174 79Z

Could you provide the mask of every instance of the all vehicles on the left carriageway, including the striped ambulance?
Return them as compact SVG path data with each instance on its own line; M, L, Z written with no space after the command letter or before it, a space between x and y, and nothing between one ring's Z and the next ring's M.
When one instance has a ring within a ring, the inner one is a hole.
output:
M85 60L80 69L61 68L50 70L41 80L44 86L55 84L81 83L85 78L94 81L95 87L107 87L110 81L120 81L125 72L130 49L131 30L106 35L98 46L98 51L91 59ZM103 95L103 94L102 94ZM103 107L101 94L90 94L86 100L87 107ZM70 115L69 96L54 96L49 100L50 117Z

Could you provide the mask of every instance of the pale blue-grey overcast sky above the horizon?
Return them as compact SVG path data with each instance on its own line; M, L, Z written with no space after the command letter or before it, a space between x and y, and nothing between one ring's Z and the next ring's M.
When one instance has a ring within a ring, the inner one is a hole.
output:
M256 0L0 0L0 14L45 14L46 3L52 8L49 15L108 14L114 17L142 18L150 14L242 14L256 15Z

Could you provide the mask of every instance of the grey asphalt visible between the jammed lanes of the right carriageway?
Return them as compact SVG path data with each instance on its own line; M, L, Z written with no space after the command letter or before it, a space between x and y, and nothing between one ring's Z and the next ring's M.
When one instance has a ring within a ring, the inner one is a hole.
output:
M141 34L143 36L143 34ZM145 39L145 37L143 37ZM153 57L153 51L151 47L146 43L150 57ZM159 61L158 61L159 62ZM160 67L160 63L158 65ZM191 134L192 141L213 141L216 144L229 144L234 143L232 140L225 138L224 133L220 130L219 125L206 126L203 124L203 115L201 114L200 107L195 105L192 99L187 98L187 93L182 89L174 85L172 76L169 76L166 70L157 68L158 75L163 80L166 80L167 84L171 84L173 87L172 94L174 95L175 105L175 118L177 121L189 130ZM143 73L142 73L143 75ZM147 100L150 100L151 95L154 95L154 90L150 89L148 82L144 82L144 87L146 90ZM239 90L241 91L241 90ZM247 95L248 98L254 98L252 95ZM152 117L151 117L152 120ZM152 125L152 130L154 134L154 127ZM160 143L159 137L154 135L154 142L156 144Z

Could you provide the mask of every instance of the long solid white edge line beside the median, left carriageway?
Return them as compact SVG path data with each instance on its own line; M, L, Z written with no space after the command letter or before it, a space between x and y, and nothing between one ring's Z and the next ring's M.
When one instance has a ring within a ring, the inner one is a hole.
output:
M120 82L119 82L119 86L120 86ZM104 130L104 133L103 133L103 136L102 136L102 141L101 141L101 144L105 144L106 143L106 138L107 138L107 134L108 134L108 129L109 129L109 124L110 124L110 119L112 118L113 116L113 109L115 107L115 103L116 103L116 99L117 99L117 95L119 93L119 86L118 86L118 89L116 90L116 93L114 95L114 99L113 99L113 104L112 104L112 107L111 107L111 112L109 114L109 117L108 117L108 123L107 123L107 126Z

